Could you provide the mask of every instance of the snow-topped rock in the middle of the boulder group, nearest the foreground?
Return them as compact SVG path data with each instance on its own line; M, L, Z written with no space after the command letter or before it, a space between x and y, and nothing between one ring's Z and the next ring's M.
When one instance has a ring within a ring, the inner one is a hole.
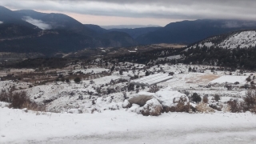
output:
M146 104L142 107L141 113L144 116L158 116L161 114L163 108L160 102L156 98L152 98L146 102Z

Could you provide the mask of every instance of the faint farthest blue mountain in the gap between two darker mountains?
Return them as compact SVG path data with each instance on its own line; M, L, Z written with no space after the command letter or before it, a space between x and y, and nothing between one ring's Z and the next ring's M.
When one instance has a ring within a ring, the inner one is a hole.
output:
M143 27L143 28L135 28L135 29L110 29L108 31L120 31L126 34L130 34L130 36L133 38L138 38L138 36L140 35L148 34L160 28L161 27Z

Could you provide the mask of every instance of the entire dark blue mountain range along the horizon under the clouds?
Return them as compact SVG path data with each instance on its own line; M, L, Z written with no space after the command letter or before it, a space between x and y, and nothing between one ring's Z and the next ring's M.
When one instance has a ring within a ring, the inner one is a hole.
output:
M12 11L0 6L0 52L52 56L96 47L191 44L210 36L255 28L254 21L204 19L172 22L164 27L118 29L116 26L115 29L106 30L101 26L82 24L65 14Z

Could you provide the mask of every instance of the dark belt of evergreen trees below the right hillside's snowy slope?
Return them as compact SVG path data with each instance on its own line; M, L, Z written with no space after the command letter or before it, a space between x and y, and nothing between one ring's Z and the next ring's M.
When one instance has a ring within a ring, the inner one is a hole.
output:
M184 63L228 66L233 68L256 69L256 47L224 49L221 47L195 47L183 51Z

